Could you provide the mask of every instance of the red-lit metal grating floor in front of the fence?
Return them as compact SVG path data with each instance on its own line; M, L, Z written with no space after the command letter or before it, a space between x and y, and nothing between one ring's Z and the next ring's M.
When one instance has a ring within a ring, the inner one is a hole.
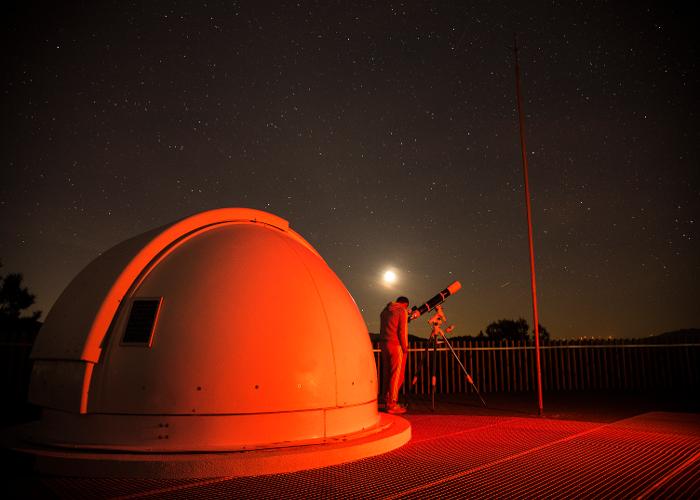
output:
M304 472L209 480L41 478L61 498L679 498L700 496L700 418L601 424L408 415L393 452Z

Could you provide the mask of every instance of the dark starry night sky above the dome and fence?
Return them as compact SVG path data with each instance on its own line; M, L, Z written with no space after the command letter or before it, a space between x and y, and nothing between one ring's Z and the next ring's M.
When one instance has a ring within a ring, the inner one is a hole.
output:
M457 279L454 335L532 325L517 32L540 323L700 326L690 8L81 4L13 2L1 21L0 273L22 272L44 316L101 251L239 206L287 219L370 331L388 300Z

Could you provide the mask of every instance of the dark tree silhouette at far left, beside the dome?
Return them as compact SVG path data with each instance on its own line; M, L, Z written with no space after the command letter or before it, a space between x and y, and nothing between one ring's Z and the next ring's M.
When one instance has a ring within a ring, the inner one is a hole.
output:
M23 315L26 309L34 305L36 297L22 286L22 280L20 273L0 274L0 333L3 339L33 340L41 326L41 311Z

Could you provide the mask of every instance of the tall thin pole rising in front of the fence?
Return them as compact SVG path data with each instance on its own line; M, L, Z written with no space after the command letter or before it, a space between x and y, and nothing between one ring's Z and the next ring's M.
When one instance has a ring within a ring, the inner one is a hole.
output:
M523 158L523 175L525 177L525 207L527 208L527 238L530 246L530 283L532 285L532 315L535 323L535 363L537 366L537 410L542 415L542 370L540 368L540 323L537 313L537 282L535 280L535 247L532 244L532 211L530 209L530 183L527 174L527 149L525 147L525 118L523 116L522 97L520 95L520 66L518 64L518 40L513 35L515 52L515 92L518 98L518 121L520 123L520 153Z

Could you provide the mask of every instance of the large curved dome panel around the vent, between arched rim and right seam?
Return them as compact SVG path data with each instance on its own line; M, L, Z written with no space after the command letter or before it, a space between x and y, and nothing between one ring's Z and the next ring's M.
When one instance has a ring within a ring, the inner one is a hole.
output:
M122 345L123 308L93 374L91 409L213 414L335 406L335 388L326 383L336 373L324 303L299 254L323 261L287 240L269 226L232 223L172 249L134 292L163 297L151 348Z

